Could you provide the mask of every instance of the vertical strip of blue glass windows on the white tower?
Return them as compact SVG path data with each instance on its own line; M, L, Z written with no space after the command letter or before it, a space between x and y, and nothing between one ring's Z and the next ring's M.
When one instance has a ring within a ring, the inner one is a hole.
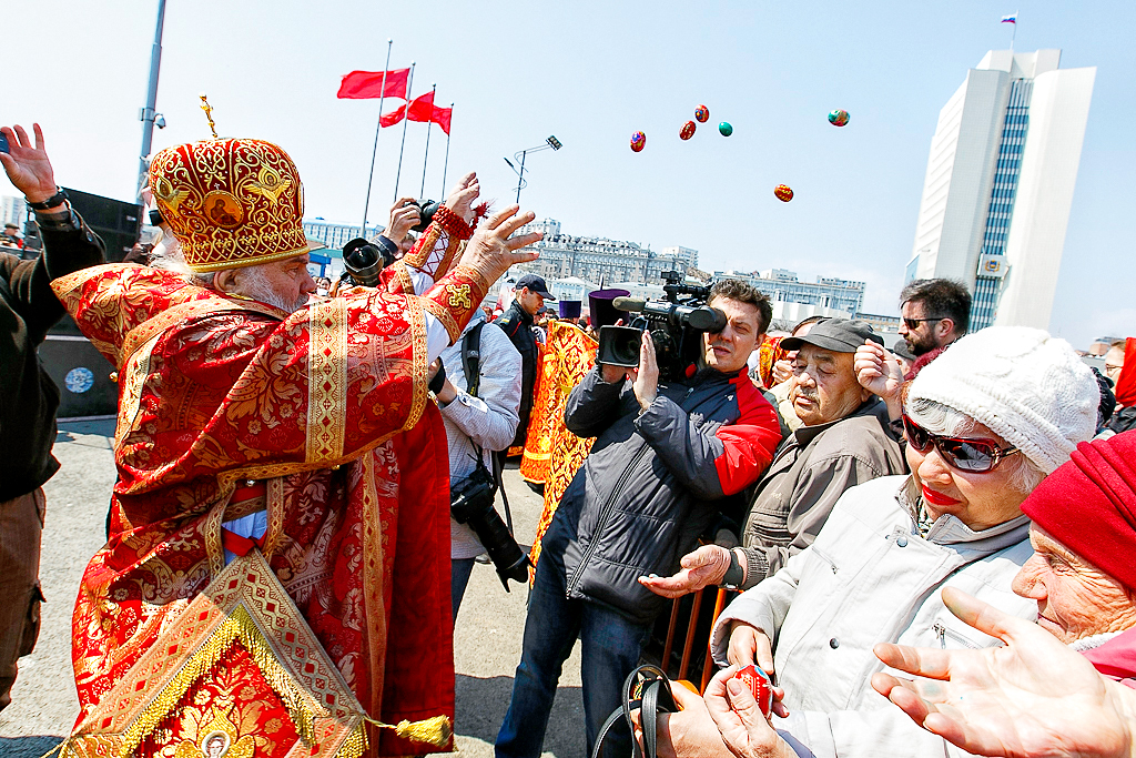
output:
M1030 80L1017 80L1010 85L1010 103L1005 110L1002 141L999 144L997 163L994 167L994 186L991 190L989 208L986 213L983 256L1005 253L1005 238L1010 230L1013 200L1018 190L1021 149L1026 144L1026 131L1029 128L1029 98L1033 90L1034 83ZM970 305L971 331L994 323L1002 278L1002 276L984 276L984 269L979 268Z

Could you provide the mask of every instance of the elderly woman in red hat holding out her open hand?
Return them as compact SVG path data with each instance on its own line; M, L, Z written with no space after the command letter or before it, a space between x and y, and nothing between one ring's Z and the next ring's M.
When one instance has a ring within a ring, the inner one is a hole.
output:
M1136 431L1078 445L1072 460L1021 505L1034 520L1034 556L1013 582L1014 592L1037 602L1038 626L1079 652L1101 676L1131 689L1136 689L1134 463ZM1028 630L1017 628L966 595L946 601L974 626L1001 627L1006 648L947 655L880 645L877 653L885 663L949 680L933 684L903 683L887 674L875 677L872 686L916 723L982 755L1005 755L1011 747L1019 755L1047 755L1046 745L1108 755L1102 738L1116 731L1109 726L1109 708L1087 717L1086 707L1112 701L1114 711L1129 711L1125 719L1129 725L1136 720L1131 714L1136 695L1121 699L1110 693L1085 675L1084 664L1053 650L1052 642L1036 633L1029 638ZM932 714L935 717L928 720ZM1122 743L1122 735L1114 742Z

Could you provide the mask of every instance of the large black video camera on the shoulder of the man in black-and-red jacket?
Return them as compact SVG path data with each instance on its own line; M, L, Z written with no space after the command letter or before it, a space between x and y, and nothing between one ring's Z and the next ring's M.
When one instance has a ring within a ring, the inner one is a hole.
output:
M617 310L641 314L627 326L601 326L596 361L608 366L638 366L643 331L651 333L659 378L671 381L694 375L702 358L702 333L726 328L726 314L707 305L710 288L683 284L679 272L663 272L662 302L616 298Z

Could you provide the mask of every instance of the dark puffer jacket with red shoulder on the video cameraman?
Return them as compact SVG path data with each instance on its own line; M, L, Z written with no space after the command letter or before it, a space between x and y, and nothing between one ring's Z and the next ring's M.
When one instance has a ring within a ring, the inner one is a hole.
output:
M640 411L629 382L593 369L568 397L565 423L595 436L565 491L566 592L649 624L670 601L637 581L668 576L718 517L722 498L758 480L780 442L772 407L743 373L703 368L660 384Z

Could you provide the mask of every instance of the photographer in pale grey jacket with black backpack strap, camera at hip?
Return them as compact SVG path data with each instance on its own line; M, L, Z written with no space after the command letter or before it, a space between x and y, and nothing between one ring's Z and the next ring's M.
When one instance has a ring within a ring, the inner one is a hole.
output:
M468 350L467 350L467 343ZM477 352L476 392L470 393L466 357ZM435 395L450 443L450 485L457 485L477 468L477 457L493 470L493 453L504 450L517 433L520 407L520 353L496 326L485 320L481 309L461 336L442 351L445 383ZM477 535L466 524L450 517L451 593L453 619L466 592L474 559L485 552Z

